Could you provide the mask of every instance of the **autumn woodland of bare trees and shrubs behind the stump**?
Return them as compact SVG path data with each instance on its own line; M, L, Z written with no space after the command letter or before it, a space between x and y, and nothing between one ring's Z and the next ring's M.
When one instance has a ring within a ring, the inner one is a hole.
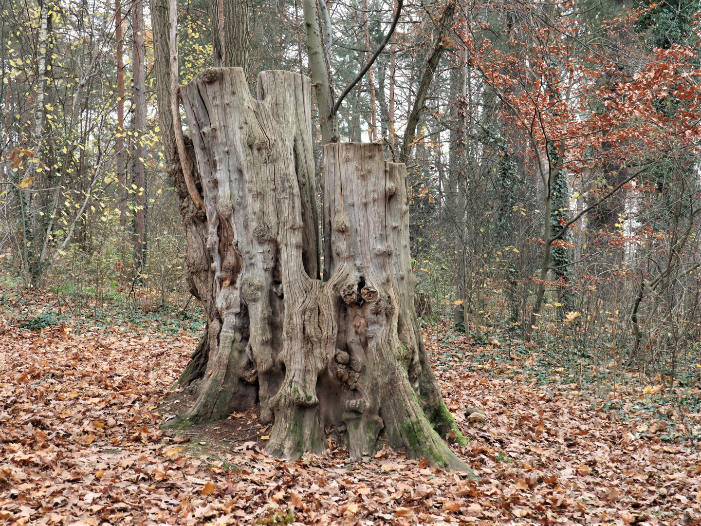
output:
M341 90L397 6L324 5ZM163 162L149 6L1 6L3 301L53 293L57 309L18 321L37 327L69 311L109 325L128 311L137 325L198 328ZM213 63L212 22L207 1L178 6L182 84ZM627 363L670 384L697 379L697 11L688 0L402 6L343 100L339 134L407 161L425 326L580 369ZM253 88L265 69L310 74L301 4L252 2L248 15ZM449 36L437 40L442 25Z

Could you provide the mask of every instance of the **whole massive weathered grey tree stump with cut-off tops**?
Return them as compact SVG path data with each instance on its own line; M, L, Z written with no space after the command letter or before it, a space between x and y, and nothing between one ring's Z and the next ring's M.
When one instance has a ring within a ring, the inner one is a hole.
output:
M188 419L259 402L268 450L351 457L379 443L468 469L439 433L464 438L442 402L414 314L406 170L379 144L325 147L328 281L319 279L311 82L240 68L181 88L207 213L221 327Z

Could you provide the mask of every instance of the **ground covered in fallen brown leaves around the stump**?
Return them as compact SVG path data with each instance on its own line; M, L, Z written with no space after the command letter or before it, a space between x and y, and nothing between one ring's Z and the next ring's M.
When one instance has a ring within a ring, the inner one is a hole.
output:
M426 345L475 480L390 450L286 461L264 452L254 410L160 429L189 403L170 386L192 324L20 328L52 301L0 302L0 525L701 523L699 389L435 326Z

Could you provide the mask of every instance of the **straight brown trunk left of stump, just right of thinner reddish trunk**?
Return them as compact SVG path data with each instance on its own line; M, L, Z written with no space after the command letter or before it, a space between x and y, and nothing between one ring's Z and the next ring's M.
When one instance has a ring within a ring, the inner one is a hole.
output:
M143 272L146 260L146 71L144 57L144 4L136 0L133 6L134 32L134 163L135 163L135 226L134 226L134 264L135 276Z

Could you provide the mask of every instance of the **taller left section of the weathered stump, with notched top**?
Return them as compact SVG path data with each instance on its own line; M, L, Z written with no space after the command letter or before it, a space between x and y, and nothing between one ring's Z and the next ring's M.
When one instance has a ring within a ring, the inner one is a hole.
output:
M299 283L310 280L307 273L318 276L310 90L299 75L264 72L262 100L255 100L240 68L209 69L182 88L219 314L210 322L219 349L192 415L222 417L258 397L261 419L272 416L268 404L281 380L283 338L275 321L284 314L283 273L297 273L290 281Z

